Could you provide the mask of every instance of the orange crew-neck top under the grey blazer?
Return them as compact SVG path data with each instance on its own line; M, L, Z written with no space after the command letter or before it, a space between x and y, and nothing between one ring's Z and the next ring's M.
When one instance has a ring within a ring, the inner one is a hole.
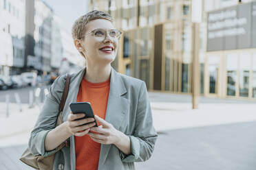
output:
M91 83L82 80L77 102L89 101L94 115L105 119L107 99L109 98L110 79L102 83ZM98 124L98 123L97 123ZM99 125L99 124L98 124ZM100 158L100 143L92 141L88 134L75 136L76 169L96 170Z

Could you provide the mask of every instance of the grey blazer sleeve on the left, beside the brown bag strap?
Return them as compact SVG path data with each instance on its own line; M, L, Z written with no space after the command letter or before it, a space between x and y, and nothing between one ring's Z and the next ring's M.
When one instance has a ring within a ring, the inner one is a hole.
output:
M61 103L61 96L65 86L64 76L65 75L59 76L50 87L50 92L44 101L36 125L34 125L34 129L30 134L28 147L34 155L50 156L54 153L55 149L52 151L45 151L45 136L50 130L56 127L58 106Z

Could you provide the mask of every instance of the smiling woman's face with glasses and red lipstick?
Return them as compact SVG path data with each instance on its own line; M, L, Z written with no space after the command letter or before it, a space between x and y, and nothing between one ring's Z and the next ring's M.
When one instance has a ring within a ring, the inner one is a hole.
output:
M82 52L87 64L110 64L114 61L118 49L118 38L109 36L111 29L115 29L114 25L105 19L96 19L87 23L85 38L81 40ZM95 30L107 31L107 35L100 37L100 32L97 32L96 35L99 36L94 36L95 32L92 31Z

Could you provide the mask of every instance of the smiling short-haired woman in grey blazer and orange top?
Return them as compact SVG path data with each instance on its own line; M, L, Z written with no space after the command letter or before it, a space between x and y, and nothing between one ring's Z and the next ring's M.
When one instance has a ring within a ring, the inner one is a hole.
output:
M120 31L109 14L92 11L72 27L76 49L86 59L84 69L71 75L70 90L62 112L64 123L55 127L65 75L58 77L30 136L32 154L47 156L70 138L54 159L54 169L135 169L134 162L151 157L156 143L145 82L117 73ZM69 104L89 101L94 119L72 114ZM83 125L84 123L89 123Z

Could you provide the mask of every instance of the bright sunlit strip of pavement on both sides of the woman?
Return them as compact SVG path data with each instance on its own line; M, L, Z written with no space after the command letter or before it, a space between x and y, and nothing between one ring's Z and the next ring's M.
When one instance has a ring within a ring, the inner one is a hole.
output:
M152 93L151 93L152 95ZM159 95L159 94L153 94ZM40 108L28 108L23 104L23 111L19 112L17 104L10 104L10 116L7 118L5 104L0 103L0 147L23 145L28 143L28 136L36 123ZM256 104L234 103L203 103L199 109L192 110L190 103L151 102L153 124L158 132L256 121Z

